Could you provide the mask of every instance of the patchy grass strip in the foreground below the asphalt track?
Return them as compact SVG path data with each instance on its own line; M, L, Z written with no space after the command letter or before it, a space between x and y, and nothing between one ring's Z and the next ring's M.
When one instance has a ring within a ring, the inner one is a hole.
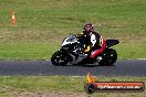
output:
M96 77L97 82L144 82L145 77ZM35 96L50 95L55 91L62 91L60 96L64 97L74 94L87 97L84 91L84 77L71 76L0 76L0 96L18 97L24 93L35 94ZM144 97L144 93L95 93L91 97ZM31 95L30 94L30 95ZM28 94L28 96L30 96ZM25 95L27 96L27 95ZM27 96L27 97L28 97ZM53 95L54 96L54 95ZM59 95L58 95L59 96ZM45 97L45 96L44 96ZM48 96L46 96L48 97ZM73 97L73 96L72 96Z

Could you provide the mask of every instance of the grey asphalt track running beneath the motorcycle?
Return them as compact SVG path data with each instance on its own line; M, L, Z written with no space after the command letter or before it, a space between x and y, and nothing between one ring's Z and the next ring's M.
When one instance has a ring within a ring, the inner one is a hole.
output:
M0 75L52 76L71 75L84 76L91 72L94 76L145 76L146 61L117 61L114 66L53 66L50 61L0 61Z

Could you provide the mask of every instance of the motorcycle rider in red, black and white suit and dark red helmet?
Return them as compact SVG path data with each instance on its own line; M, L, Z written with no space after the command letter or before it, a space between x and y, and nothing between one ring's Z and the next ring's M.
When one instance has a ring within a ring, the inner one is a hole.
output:
M105 40L94 31L93 24L84 25L83 36L86 45L84 52L90 52L90 58L96 58L106 48Z

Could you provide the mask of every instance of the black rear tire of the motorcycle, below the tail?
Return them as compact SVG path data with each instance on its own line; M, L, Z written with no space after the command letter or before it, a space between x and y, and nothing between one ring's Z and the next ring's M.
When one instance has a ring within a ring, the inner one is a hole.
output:
M115 50L108 48L104 54L103 60L98 62L100 65L111 66L116 62L117 53Z

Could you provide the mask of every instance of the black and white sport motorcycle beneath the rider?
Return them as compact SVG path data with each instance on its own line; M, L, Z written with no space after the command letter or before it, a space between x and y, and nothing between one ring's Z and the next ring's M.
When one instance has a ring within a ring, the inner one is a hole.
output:
M70 35L64 39L62 46L51 57L51 62L55 66L75 65L75 64L97 64L113 65L117 60L117 53L111 48L118 44L118 40L106 40L106 48L94 61L90 58L90 54L83 52L84 40L76 35Z

